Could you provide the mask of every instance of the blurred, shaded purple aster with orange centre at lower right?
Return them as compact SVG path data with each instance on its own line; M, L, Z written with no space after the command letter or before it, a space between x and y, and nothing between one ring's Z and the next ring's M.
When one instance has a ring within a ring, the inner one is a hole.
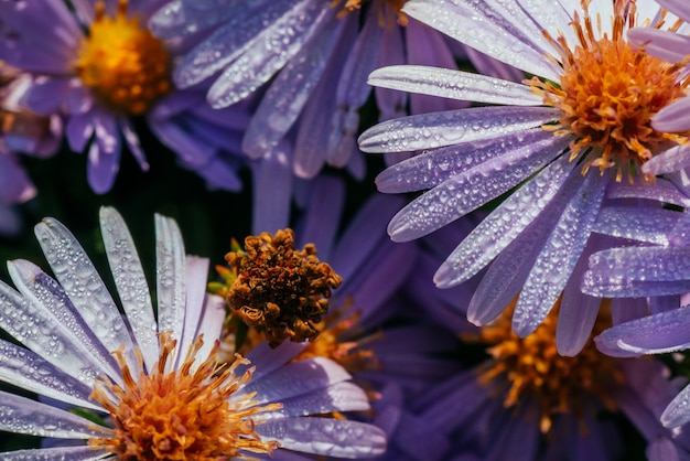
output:
M462 226L451 227L462 232ZM424 267L433 267L433 260L438 265L442 257L430 249ZM419 421L418 438L429 435L444 450L429 457L410 442L406 453L411 459L617 460L629 443L630 432L621 426L624 418L648 443L647 459L683 459L690 436L659 421L677 392L665 365L610 357L592 341L573 357L560 355L554 341L558 307L527 337L511 331L509 310L478 329L457 313L453 319L450 312L456 311L459 300L467 307L477 282L473 278L439 290L430 280L417 278L411 288L434 305L431 312L440 324L459 332L465 342L457 353L464 368L410 405L408 419ZM608 323L604 313L595 321L595 333ZM486 355L477 356L482 346Z

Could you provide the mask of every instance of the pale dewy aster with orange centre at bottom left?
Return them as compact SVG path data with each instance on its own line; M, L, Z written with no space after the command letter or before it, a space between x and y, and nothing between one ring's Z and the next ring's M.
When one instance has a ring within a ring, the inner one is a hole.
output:
M9 271L17 291L0 283L3 311L12 312L1 326L28 347L2 341L1 378L62 403L1 393L0 429L63 440L3 459L246 459L279 447L348 458L382 451L378 429L324 416L368 408L336 364L285 365L297 353L290 346L259 346L248 358L217 362L222 300L205 294L208 261L185 257L174 221L155 218L157 317L122 218L104 208L100 223L125 317L74 236L52 218L35 232L57 280L15 260Z

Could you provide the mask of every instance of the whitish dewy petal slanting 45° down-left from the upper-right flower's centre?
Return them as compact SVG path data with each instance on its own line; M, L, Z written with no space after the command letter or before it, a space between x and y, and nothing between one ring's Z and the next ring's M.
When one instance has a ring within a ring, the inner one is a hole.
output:
M506 199L436 270L436 286L460 285L484 268L543 211L575 168L562 157Z

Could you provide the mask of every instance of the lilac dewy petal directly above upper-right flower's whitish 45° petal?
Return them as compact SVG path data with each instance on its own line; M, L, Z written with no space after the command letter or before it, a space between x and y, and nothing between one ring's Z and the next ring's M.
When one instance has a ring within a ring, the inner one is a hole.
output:
M508 151L460 173L413 200L388 224L395 242L422 237L488 203L543 168L568 147L568 137L550 137Z

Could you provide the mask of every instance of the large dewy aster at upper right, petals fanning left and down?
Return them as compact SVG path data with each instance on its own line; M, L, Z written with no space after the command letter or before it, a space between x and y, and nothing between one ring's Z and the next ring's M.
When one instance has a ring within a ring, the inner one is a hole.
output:
M370 75L376 86L488 104L391 120L359 138L367 152L424 150L377 178L382 192L429 189L391 219L389 234L397 242L421 237L507 194L434 281L456 286L495 260L468 317L484 324L519 293L513 325L520 336L565 291L560 329L575 334L559 350L576 353L600 304L579 292L579 278L586 268L581 256L604 244L591 235L606 187L650 182L640 165L687 142L684 133L650 127L655 114L684 96L679 66L625 39L659 8L410 0L402 11L535 77L516 84L424 66Z

